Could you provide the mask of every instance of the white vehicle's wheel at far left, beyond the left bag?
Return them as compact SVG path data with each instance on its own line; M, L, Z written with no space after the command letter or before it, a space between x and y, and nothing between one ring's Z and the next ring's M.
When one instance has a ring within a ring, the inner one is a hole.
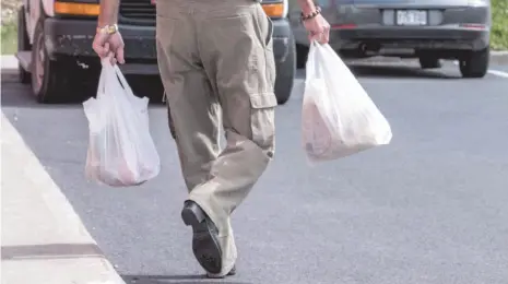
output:
M38 103L63 103L69 96L68 80L70 70L66 70L62 62L51 60L44 44L44 20L35 27L34 45L32 48L32 90Z

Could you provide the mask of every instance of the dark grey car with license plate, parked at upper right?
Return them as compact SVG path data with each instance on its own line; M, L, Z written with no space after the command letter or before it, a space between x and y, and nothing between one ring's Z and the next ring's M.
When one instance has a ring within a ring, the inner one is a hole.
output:
M319 0L330 22L330 45L343 57L418 58L422 68L440 59L459 60L464 78L483 78L488 69L489 0ZM290 0L297 66L304 67L309 42Z

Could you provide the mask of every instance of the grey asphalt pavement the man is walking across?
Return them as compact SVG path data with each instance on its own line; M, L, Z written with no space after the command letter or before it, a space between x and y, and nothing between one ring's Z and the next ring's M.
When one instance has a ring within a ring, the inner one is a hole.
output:
M238 275L223 283L506 284L508 79L462 80L452 64L354 71L392 143L309 166L298 80L277 109L275 159L234 216ZM84 178L81 105L37 105L10 79L1 91L4 114L127 283L221 283L202 277L179 218L186 189L163 106L150 113L162 174L113 189Z

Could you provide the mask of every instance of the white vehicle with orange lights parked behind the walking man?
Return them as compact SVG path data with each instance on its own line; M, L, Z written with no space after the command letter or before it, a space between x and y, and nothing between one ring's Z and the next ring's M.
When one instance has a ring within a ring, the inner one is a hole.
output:
M290 98L296 69L287 1L264 0L262 5L273 22L275 94L279 104L284 104ZM98 0L23 0L17 28L20 81L32 84L38 102L67 100L83 87L91 92L96 88L101 62L92 42L98 12ZM150 0L120 0L125 74L158 75L155 15Z

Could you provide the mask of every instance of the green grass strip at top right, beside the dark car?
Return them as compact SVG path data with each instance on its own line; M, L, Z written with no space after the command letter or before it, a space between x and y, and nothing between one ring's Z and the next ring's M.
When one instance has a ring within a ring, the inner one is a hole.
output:
M491 46L496 50L508 49L508 0L492 0L493 26Z

